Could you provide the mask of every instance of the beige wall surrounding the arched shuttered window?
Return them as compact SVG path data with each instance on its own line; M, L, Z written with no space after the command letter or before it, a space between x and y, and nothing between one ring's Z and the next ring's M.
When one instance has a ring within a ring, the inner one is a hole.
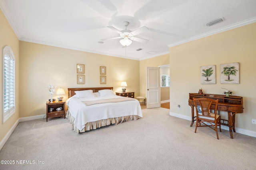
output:
M3 49L8 45L12 48L15 57L15 93L16 93L16 100L15 100L15 107L16 111L14 115L12 115L5 123L3 122L2 112L3 108ZM0 48L1 48L1 59L0 59L0 83L1 83L1 90L0 90L0 141L6 136L8 131L12 128L15 122L19 118L19 39L17 38L16 34L12 30L9 22L6 20L4 14L0 10Z

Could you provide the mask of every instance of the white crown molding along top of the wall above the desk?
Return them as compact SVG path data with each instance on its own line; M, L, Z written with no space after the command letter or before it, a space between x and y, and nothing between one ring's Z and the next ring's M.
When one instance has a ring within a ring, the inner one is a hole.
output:
M176 45L184 44L184 43L187 43L187 42L190 42L190 41L194 41L196 39L200 39L200 38L203 38L203 37L208 37L210 35L221 33L221 32L224 32L224 31L228 31L230 29L234 29L234 28L237 28L237 27L242 27L244 25L248 25L248 24L254 23L254 22L256 22L256 17L248 19L248 20L244 20L244 21L241 21L241 22L238 22L238 23L234 23L232 25L228 25L226 27L222 27L222 28L216 29L214 31L210 31L210 32L207 32L207 33L203 33L203 34L194 36L194 37L190 37L188 39L185 39L185 40L182 40L182 41L178 41L176 43L169 44L168 47L169 48L170 47L174 47Z

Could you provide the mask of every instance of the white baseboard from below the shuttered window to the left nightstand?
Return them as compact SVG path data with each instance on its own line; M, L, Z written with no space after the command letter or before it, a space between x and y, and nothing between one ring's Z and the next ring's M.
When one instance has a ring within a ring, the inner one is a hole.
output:
M4 136L4 138L2 139L2 141L0 142L0 150L2 149L2 147L4 147L4 144L7 142L7 140L9 139L9 137L12 135L12 132L14 131L14 129L17 127L17 125L22 122L22 121L30 121L30 120L36 120L36 119L43 119L45 116L44 115L36 115L36 116L28 116L28 117L21 117L19 118L14 125L12 126L12 128L8 131L8 133Z

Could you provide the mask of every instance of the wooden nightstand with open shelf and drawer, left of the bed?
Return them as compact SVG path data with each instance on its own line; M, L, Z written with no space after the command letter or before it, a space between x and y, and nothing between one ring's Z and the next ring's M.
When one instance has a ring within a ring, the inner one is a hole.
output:
M54 101L54 102L46 102L46 121L48 121L48 117L61 117L63 116L65 119L65 112L66 112L66 102L64 101ZM50 111L50 107L53 108L53 111ZM62 110L57 111L58 107L62 107Z

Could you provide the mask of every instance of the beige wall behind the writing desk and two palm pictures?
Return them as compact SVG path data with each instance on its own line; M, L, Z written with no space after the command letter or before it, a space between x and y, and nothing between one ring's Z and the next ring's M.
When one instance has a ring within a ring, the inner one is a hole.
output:
M256 131L256 23L245 25L170 48L170 113L191 116L188 94L222 94L223 89L242 96L244 113L236 127ZM220 64L239 63L240 84L220 84ZM201 84L200 66L216 65L216 84ZM181 109L178 110L177 105ZM224 116L224 115L223 115Z

